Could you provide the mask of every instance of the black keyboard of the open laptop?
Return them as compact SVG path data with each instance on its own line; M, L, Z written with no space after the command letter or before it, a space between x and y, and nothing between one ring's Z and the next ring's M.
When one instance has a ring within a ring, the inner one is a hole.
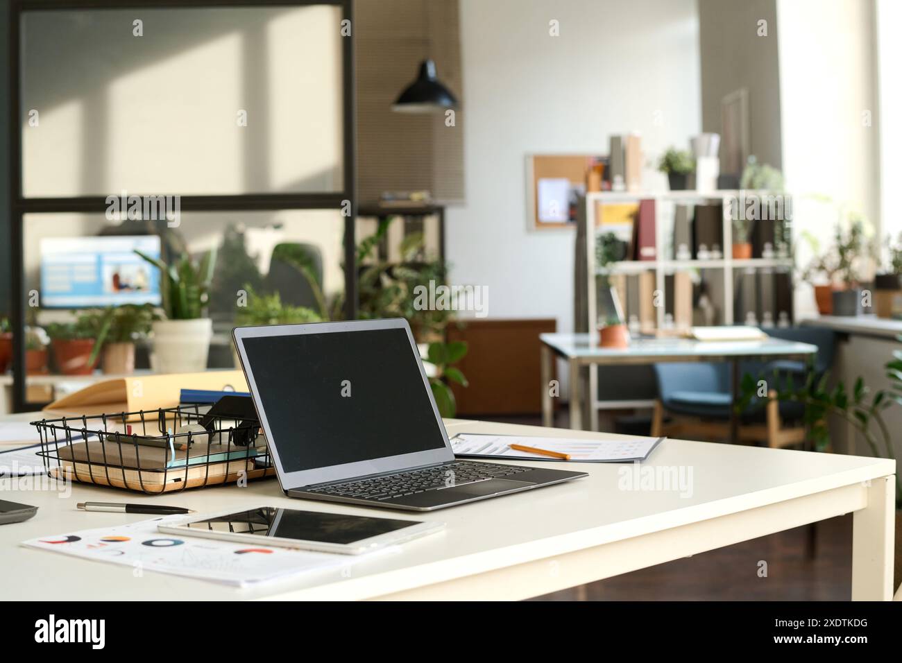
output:
M437 467L424 467L399 474L374 476L347 483L329 483L318 488L305 489L305 493L335 495L337 497L355 497L364 500L388 500L392 497L435 491L462 483L474 483L486 479L520 474L532 469L516 465L497 465L495 463L468 463L457 461Z

